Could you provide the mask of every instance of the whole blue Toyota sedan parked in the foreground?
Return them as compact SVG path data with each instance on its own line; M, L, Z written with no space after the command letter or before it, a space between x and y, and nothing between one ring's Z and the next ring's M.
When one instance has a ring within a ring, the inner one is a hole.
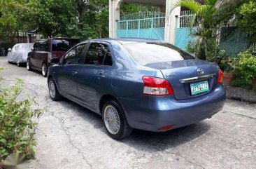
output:
M52 100L63 96L100 114L114 139L132 128L161 132L197 123L225 102L218 65L162 41L83 41L51 61Z

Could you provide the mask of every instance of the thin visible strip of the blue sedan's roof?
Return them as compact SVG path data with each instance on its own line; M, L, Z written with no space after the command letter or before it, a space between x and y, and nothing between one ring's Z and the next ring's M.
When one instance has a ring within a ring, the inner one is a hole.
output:
M124 45L129 43L156 43L156 42L164 42L156 39L136 39L136 38L122 38L122 39L112 39L112 38L103 38L103 39L92 39L90 41L117 41L118 43Z

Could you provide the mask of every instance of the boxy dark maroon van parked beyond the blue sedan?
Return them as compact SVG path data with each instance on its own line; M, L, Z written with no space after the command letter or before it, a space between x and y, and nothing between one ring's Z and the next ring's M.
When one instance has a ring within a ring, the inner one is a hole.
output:
M79 43L79 39L51 38L42 39L34 43L27 60L27 69L41 71L47 76L51 58L61 58L69 48Z

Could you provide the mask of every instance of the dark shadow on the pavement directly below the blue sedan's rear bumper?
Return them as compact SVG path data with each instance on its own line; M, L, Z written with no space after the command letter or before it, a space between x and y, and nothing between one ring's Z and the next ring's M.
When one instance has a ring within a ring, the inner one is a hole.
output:
M192 142L201 135L204 135L204 133L207 133L210 128L210 124L201 121L163 133L134 130L130 137L120 140L120 142L140 151L164 151L187 142Z

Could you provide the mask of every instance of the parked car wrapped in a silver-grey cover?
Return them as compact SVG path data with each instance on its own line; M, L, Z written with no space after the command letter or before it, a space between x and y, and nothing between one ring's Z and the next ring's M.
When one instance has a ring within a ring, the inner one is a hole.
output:
M8 62L16 63L18 67L26 63L27 53L31 51L33 45L34 43L17 43L13 48L9 48L7 54Z

